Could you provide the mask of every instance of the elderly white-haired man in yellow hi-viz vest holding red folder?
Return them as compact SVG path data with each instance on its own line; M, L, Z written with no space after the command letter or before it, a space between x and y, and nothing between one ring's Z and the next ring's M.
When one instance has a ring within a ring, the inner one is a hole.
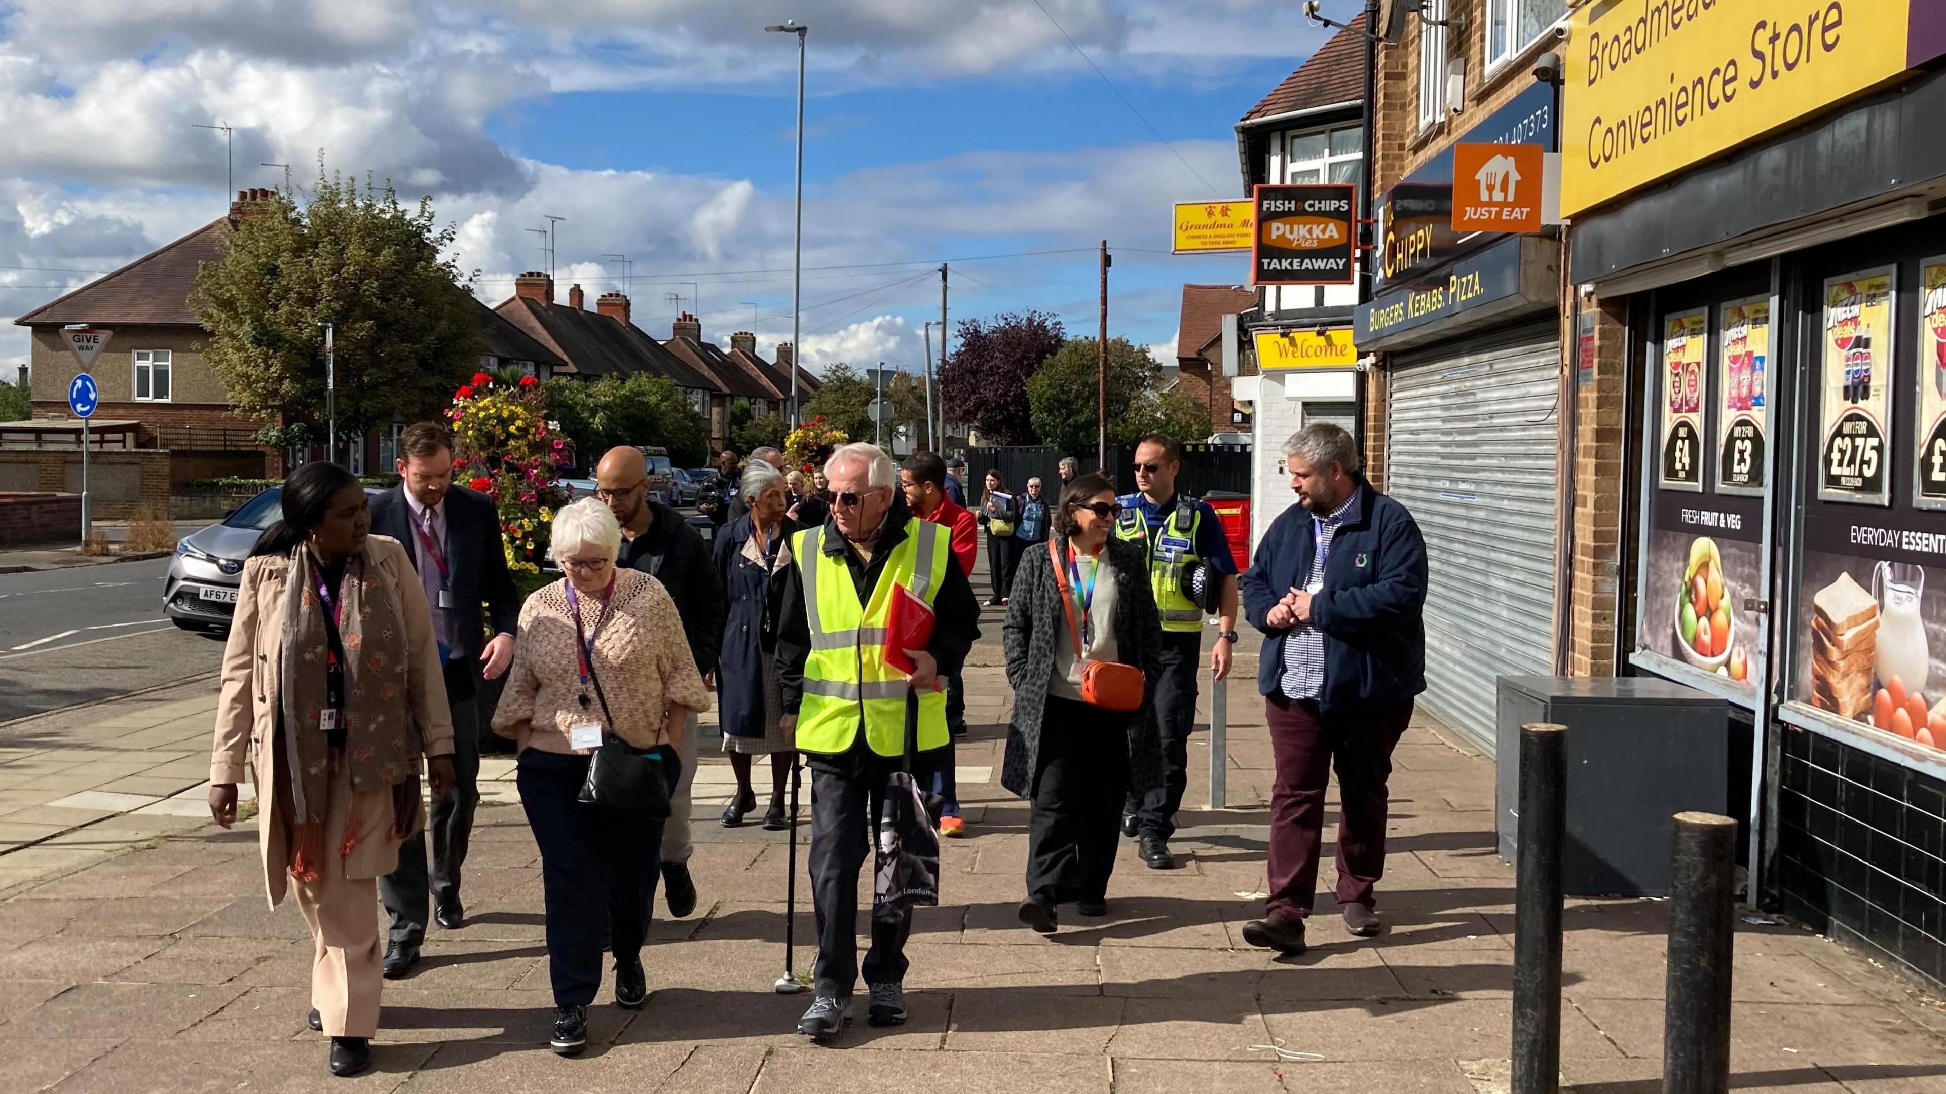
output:
M919 763L930 775L946 748L944 679L979 640L979 602L954 559L948 529L919 520L891 457L847 444L825 463L831 520L800 531L784 574L776 666L784 732L811 767L811 897L817 907L817 999L798 1032L825 1039L848 1020L858 979L858 868L874 843L885 779L905 755L905 697L919 695ZM883 660L895 590L932 605L932 640L907 650L913 674ZM864 958L874 1026L905 1022L905 936L911 913L872 919Z

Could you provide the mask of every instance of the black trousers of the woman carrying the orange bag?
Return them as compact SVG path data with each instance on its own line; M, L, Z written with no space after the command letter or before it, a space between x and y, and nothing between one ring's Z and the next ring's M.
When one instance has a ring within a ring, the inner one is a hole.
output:
M1027 895L1043 903L1105 897L1129 792L1129 714L1049 695L1035 767Z

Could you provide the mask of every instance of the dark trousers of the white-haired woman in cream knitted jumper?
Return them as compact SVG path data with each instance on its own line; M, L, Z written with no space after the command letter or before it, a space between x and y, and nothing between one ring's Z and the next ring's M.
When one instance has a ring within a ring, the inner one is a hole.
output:
M662 821L582 804L586 779L586 755L520 753L520 806L541 847L555 1006L594 1003L603 950L640 956L662 876Z

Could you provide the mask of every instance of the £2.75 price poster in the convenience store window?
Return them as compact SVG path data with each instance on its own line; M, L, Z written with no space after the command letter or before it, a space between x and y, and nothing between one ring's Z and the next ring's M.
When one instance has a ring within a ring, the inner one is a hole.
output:
M1882 506L1892 500L1893 269L1835 276L1823 290L1818 498Z

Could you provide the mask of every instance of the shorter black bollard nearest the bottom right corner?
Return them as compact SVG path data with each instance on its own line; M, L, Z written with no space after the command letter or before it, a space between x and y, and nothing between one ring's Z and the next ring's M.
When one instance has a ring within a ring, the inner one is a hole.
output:
M1730 956L1736 821L1676 814L1670 870L1670 981L1662 1028L1664 1094L1730 1090Z

